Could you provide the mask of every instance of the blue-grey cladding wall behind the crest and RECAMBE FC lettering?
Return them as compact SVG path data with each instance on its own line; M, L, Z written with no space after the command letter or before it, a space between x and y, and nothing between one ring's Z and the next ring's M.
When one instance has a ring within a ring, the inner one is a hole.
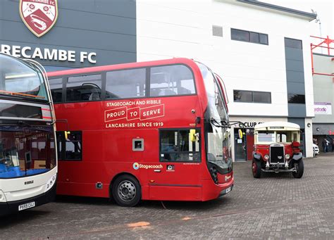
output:
M37 61L84 67L137 61L135 0L58 0L56 25L38 38L20 18L19 0L0 0L0 44L77 52L77 61ZM97 64L80 63L80 51L96 52Z

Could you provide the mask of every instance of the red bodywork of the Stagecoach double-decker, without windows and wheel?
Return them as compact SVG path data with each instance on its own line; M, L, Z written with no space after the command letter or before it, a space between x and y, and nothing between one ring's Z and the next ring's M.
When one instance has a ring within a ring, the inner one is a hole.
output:
M49 72L48 77L52 82L59 77L175 64L192 70L196 94L55 103L57 130L82 131L82 160L58 162L57 194L110 197L113 181L124 174L140 182L143 200L208 201L233 188L232 168L224 174L218 172L215 183L206 164L204 112L208 98L194 61L173 58L126 63ZM159 130L183 128L199 130L201 161L161 162ZM132 151L133 139L144 139L144 151Z

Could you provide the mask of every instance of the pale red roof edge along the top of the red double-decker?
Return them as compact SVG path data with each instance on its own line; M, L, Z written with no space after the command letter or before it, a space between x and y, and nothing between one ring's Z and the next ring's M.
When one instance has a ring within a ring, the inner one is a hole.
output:
M47 72L48 77L55 77L58 75L75 75L75 74L82 74L82 72L100 72L106 70L120 70L126 68L141 68L147 67L152 65L170 65L170 64L177 64L177 63L184 63L187 65L194 65L194 61L189 58L171 58L165 60L156 60L156 61L146 61L146 62L137 62L137 63L121 63L115 65L103 65L98 67L89 67L89 68L75 68L70 70L61 70L55 72Z

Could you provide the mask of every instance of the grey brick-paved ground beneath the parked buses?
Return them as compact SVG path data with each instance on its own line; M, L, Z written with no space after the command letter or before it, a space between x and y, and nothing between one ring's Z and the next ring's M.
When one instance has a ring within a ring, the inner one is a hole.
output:
M0 239L334 238L333 153L305 159L301 179L290 173L254 179L251 161L233 167L235 188L214 201L122 208L104 198L61 196L1 217Z

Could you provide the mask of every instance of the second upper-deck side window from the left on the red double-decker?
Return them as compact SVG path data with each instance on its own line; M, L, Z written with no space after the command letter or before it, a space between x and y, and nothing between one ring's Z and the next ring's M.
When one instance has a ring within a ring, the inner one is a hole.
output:
M81 75L68 77L66 84L66 101L101 100L101 75Z

